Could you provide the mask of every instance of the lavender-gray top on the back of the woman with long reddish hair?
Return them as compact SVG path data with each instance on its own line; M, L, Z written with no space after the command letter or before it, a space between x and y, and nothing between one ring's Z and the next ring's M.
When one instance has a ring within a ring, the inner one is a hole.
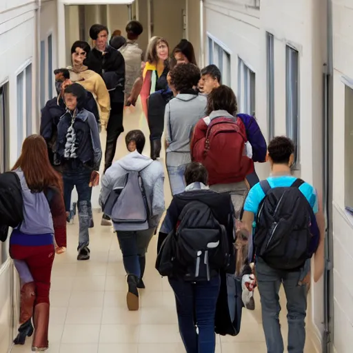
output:
M23 172L15 170L21 181L23 221L18 229L25 234L54 234L52 212L44 192L32 192Z

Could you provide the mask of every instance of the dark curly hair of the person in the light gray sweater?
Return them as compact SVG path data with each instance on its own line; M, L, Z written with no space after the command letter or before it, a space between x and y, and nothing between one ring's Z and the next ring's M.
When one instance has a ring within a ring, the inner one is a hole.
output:
M191 90L200 78L200 69L193 63L181 63L170 71L170 81L177 92Z

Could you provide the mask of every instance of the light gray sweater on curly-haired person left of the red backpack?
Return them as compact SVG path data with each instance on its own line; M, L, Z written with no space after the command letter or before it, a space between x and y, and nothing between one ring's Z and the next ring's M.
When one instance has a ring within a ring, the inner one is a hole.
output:
M164 131L167 141L166 164L173 167L191 162L190 137L194 125L205 117L207 97L178 94L165 106Z

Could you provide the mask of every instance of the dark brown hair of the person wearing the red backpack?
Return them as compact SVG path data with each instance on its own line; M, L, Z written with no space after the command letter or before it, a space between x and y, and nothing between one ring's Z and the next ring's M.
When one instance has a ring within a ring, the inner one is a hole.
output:
M238 103L232 88L220 85L214 88L207 97L206 114L210 115L214 110L225 110L231 115L238 111Z

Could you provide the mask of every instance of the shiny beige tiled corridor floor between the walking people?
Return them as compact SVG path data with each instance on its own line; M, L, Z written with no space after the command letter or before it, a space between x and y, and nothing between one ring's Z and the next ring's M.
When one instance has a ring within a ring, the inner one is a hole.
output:
M127 114L125 131L147 130L140 111ZM148 135L147 135L148 136ZM103 139L102 139L103 140ZM149 146L146 146L148 153ZM117 156L125 154L123 136ZM168 180L166 203L170 201ZM97 194L97 191L96 191ZM139 312L128 312L125 303L125 272L116 236L100 224L90 231L90 261L77 262L78 220L68 225L68 252L57 256L52 271L50 294L50 350L48 353L182 353L174 296L166 279L154 269L156 239L148 252L145 272L146 289L141 290ZM259 294L256 293L256 299ZM243 310L241 333L236 337L217 337L217 353L265 353L259 302L256 310ZM285 308L285 305L282 305ZM286 331L285 310L281 314ZM29 353L30 339L12 353ZM312 353L307 347L305 353Z

